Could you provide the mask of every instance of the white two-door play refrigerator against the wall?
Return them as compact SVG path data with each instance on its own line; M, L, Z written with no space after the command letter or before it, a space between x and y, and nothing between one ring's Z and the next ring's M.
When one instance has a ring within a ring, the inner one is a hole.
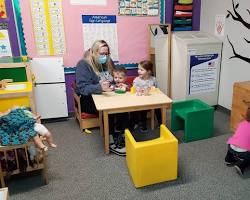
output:
M33 58L35 102L42 119L68 117L62 57Z

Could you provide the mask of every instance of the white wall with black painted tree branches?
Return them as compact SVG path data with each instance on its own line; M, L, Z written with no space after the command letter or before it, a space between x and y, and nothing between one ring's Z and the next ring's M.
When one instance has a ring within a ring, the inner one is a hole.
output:
M235 5L239 3L238 13L250 23L250 15L246 11L247 8L250 10L249 0L234 0L234 3ZM226 16L227 10L233 11L231 0L201 0L200 30L214 34L215 16ZM234 82L250 80L250 63L238 58L229 59L233 56L233 51L227 40L227 35L236 52L249 58L250 44L247 44L243 38L250 40L250 29L229 17L226 19L224 36L220 37L223 41L223 51L218 104L231 109L233 84Z

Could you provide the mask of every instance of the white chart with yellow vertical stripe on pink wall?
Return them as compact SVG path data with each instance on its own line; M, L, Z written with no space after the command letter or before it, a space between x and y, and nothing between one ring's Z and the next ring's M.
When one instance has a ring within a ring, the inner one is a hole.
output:
M62 0L30 0L30 7L37 54L64 54Z

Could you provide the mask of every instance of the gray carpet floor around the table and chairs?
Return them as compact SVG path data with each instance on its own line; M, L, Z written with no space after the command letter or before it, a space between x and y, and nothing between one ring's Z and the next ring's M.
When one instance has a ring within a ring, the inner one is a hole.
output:
M74 119L47 123L56 149L49 150L48 185L40 173L8 180L11 200L68 199L227 199L249 200L248 173L239 176L224 164L230 136L229 115L215 112L215 136L191 143L179 139L178 179L136 189L128 174L125 157L105 155L99 129L80 131ZM249 170L250 171L250 170Z

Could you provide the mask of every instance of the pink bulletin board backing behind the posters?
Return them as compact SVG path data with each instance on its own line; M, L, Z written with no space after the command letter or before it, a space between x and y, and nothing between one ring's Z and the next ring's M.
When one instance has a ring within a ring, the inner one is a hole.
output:
M83 33L82 15L116 16L118 64L136 64L141 60L148 59L148 24L159 24L159 15L145 17L120 16L118 15L118 1L106 0L106 2L107 5L105 6L85 6L72 5L70 0L62 1L65 45L67 49L63 58L66 67L75 67L84 54L85 35ZM35 36L29 1L20 1L20 7L28 56L40 57L34 43ZM111 57L113 58L113 55Z

